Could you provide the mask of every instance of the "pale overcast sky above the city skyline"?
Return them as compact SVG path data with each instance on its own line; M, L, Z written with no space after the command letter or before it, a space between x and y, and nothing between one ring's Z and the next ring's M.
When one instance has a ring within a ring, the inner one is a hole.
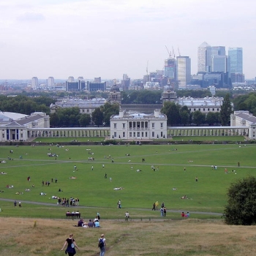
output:
M255 9L255 0L1 0L0 79L138 79L162 70L172 49L196 74L203 42L243 48L255 78Z

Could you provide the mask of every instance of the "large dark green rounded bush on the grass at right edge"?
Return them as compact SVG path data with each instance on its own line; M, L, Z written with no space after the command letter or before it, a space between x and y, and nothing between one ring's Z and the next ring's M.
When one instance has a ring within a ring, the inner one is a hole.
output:
M246 177L231 184L227 192L225 222L229 225L256 224L256 178Z

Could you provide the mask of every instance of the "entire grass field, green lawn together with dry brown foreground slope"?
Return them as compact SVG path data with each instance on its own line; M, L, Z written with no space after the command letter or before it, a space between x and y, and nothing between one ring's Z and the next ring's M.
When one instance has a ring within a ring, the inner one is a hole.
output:
M74 233L80 247L77 255L99 255L101 233L107 238L108 256L253 255L256 227L227 226L222 212L230 184L255 176L255 151L255 145L244 143L1 146L1 160L7 163L0 164L0 173L7 174L0 174L0 255L64 255L60 249L69 233ZM48 157L50 152L59 157ZM50 181L50 185L42 186L42 181ZM13 188L7 189L7 185ZM115 191L115 187L124 189ZM73 227L78 220L66 219L67 208L58 206L52 195L78 197L80 206L72 209L79 210L86 221L99 211L101 228ZM181 199L184 195L189 199ZM121 209L116 205L119 199ZM22 207L15 208L14 200ZM165 202L167 217L151 211L157 200ZM124 221L125 211L129 211L129 222ZM181 219L181 211L189 211L189 219Z

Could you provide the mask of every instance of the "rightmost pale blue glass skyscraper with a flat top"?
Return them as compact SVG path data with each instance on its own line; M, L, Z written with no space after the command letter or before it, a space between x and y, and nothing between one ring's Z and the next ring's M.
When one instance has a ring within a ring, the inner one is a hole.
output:
M243 74L243 48L228 48L228 56L230 56L230 73Z

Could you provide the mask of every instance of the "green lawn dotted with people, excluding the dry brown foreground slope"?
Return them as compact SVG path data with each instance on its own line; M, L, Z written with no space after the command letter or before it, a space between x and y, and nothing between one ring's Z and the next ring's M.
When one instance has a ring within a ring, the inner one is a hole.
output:
M10 154L10 150L13 154ZM1 159L11 157L13 160L0 165L0 172L7 173L0 176L0 190L4 191L0 197L54 204L56 200L51 199L52 195L78 197L81 206L92 207L80 208L83 215L94 216L99 210L105 218L110 219L123 218L126 209L137 218L159 217L159 211L151 211L152 204L157 200L160 204L164 201L167 210L177 210L178 213L172 214L174 217L180 216L179 211L222 213L230 183L245 176L255 176L255 151L255 145L246 144L1 146ZM59 157L48 157L49 152ZM94 161L89 161L89 157L94 157ZM112 158L114 162L111 162ZM142 162L143 158L145 162ZM238 162L241 163L240 167L237 166ZM74 165L78 170L74 170ZM94 170L91 170L92 165ZM152 170L151 165L158 170ZM211 165L217 165L217 170L212 170ZM225 167L229 171L227 174ZM136 172L138 169L142 171ZM237 174L231 170L236 170ZM105 178L105 173L108 178ZM30 182L27 181L28 176L31 176ZM72 176L75 178L70 178ZM197 182L195 177L198 178ZM57 183L55 178L58 178ZM50 186L42 186L42 181L50 181ZM7 185L13 185L13 188L7 189ZM124 189L115 191L115 187ZM30 188L30 192L26 192L26 188ZM63 192L58 192L59 188ZM23 194L15 195L16 192ZM47 195L39 195L40 192ZM182 200L183 195L189 199ZM119 199L124 211L116 208ZM0 216L5 217L55 218L64 217L66 211L66 208L57 205L25 203L22 209L14 209L12 202L4 201L0 201L0 208Z

